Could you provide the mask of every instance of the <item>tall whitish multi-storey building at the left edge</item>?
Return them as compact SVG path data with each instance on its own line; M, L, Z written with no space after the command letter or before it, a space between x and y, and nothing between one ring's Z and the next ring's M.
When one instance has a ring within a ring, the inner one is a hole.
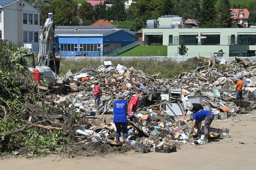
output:
M39 11L23 0L0 0L0 38L39 51Z

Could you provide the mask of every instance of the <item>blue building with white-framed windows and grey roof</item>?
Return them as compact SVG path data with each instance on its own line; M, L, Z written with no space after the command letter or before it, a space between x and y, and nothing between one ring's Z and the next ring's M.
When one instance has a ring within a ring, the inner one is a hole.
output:
M138 37L116 26L58 26L56 53L63 56L104 56L138 41Z

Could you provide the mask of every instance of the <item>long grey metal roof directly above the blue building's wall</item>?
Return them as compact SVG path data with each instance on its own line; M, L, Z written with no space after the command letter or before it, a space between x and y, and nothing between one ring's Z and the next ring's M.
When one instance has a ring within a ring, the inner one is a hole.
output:
M55 35L105 35L111 32L117 31L116 29L86 29L86 30L74 30L74 29L66 29L66 30L58 30L55 29L54 34Z

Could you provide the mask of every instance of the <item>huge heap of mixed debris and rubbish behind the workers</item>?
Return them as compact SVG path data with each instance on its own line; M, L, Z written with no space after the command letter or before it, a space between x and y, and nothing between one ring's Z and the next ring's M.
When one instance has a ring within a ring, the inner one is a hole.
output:
M90 127L76 130L81 143L99 141L111 146L122 146L124 141L115 142L115 124L108 120L102 121L95 114L113 114L113 103L119 92L123 92L125 100L129 102L142 89L144 95L136 114L127 117L129 145L142 143L156 149L172 149L178 148L179 142L204 144L200 143L200 135L189 138L191 121L186 125L184 121L175 121L175 116L182 115L188 103L200 103L205 110L212 110L216 121L228 119L237 113L250 112L256 107L256 61L239 57L230 61L216 58L216 64L212 66L212 58L189 60L200 66L196 70L180 73L174 79L159 78L160 74L150 76L140 69L120 64L113 66L111 61L76 73L68 71L65 75L65 93L56 96L55 107L60 108L64 115L71 111L82 114L90 122ZM236 84L232 79L237 79L239 75L244 77L244 101L237 104ZM94 107L94 80L99 81L101 89L99 110ZM246 105L246 102L249 104ZM187 117L189 119L189 115ZM225 130L212 128L210 132L213 138L230 137ZM201 130L199 134L203 135L204 131Z

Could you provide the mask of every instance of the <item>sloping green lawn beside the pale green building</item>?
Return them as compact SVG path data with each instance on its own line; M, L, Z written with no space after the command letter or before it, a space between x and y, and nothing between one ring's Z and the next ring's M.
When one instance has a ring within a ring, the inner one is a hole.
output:
M167 46L138 46L120 54L121 57L167 56Z

